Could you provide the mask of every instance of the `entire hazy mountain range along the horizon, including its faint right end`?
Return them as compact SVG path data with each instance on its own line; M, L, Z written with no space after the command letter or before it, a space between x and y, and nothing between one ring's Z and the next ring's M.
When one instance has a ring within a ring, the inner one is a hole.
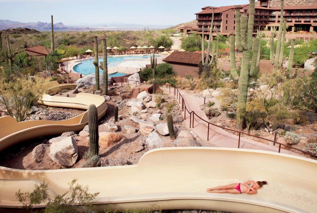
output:
M171 25L145 25L145 24L129 24L123 22L111 22L100 25L94 25L93 27L83 27L81 26L66 26L62 22L54 24L55 31L89 31L89 30L138 30L149 27L149 29L165 29L170 27ZM29 28L36 29L38 31L50 31L51 23L47 22L15 22L10 20L1 20L0 19L0 30L3 29L12 29L12 28Z

